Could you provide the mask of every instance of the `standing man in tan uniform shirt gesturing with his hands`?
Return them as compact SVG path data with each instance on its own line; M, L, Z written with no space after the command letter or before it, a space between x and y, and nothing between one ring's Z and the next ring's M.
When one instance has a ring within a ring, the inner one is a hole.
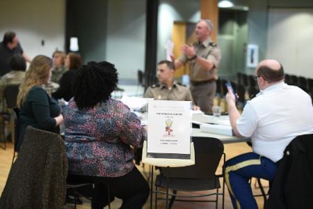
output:
M188 63L190 66L190 90L195 104L204 112L212 112L216 93L217 70L221 53L211 40L213 24L210 20L200 20L195 26L195 37L198 42L184 45L182 55L175 60L175 68ZM172 57L174 60L174 57Z

